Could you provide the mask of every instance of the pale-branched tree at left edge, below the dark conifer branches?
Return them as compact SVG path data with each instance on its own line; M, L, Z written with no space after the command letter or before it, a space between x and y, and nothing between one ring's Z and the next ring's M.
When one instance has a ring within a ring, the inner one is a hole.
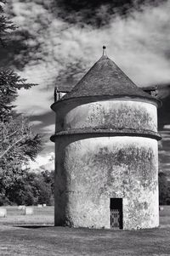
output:
M0 122L0 192L8 195L8 189L26 172L24 167L34 160L41 150L41 137L32 134L25 117L9 117Z

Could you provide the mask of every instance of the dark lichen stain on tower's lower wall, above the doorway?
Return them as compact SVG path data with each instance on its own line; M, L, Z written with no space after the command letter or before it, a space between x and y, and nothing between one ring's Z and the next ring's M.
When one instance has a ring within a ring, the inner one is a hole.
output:
M114 173L117 168L124 168L125 179L122 179L124 185L127 184L128 175L132 176L132 174L134 179L138 177L143 185L146 181L147 185L150 185L152 179L155 179L153 154L151 148L129 146L118 151L116 149L109 151L107 147L104 147L94 155L94 166L99 165L102 169L107 168L108 185L116 180Z

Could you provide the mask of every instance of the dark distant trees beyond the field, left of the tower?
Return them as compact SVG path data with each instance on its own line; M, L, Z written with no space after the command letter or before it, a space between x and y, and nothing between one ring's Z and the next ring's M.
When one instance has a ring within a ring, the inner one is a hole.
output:
M53 177L54 171L35 174L26 170L24 175L8 186L0 197L0 205L54 205Z

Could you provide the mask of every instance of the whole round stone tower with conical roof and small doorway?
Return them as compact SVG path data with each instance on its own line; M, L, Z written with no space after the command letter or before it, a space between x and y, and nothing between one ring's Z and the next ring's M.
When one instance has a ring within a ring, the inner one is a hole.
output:
M159 104L105 53L54 102L55 225L159 225Z

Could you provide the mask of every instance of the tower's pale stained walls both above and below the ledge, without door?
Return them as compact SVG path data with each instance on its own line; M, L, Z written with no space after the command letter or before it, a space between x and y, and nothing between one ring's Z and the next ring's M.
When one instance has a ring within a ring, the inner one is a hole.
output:
M149 132L157 132L156 105L115 99L55 111L56 133L67 133L55 137L55 225L110 228L110 200L121 197L123 229L158 226L157 141ZM107 134L111 128L133 134Z

